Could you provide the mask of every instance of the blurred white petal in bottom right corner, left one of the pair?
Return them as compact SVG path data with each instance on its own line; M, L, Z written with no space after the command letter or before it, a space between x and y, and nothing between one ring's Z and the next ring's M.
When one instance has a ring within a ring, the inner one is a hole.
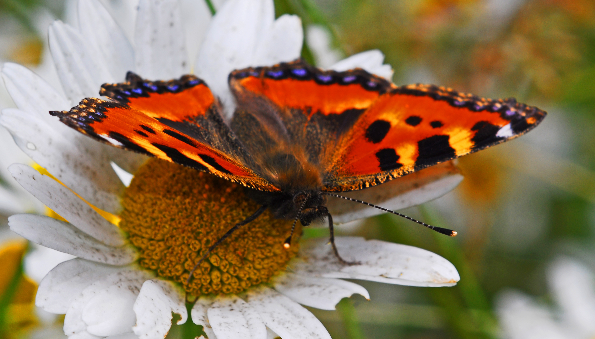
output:
M496 312L509 339L571 339L552 319L552 314L517 291L500 293Z

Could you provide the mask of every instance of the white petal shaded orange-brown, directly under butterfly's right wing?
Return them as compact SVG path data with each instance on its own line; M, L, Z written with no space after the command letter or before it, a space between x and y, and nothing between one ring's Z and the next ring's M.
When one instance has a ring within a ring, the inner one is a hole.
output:
M462 180L463 176L455 165L447 162L369 189L342 195L398 211L443 196ZM328 210L333 215L333 221L339 224L385 213L380 209L336 197L328 198Z

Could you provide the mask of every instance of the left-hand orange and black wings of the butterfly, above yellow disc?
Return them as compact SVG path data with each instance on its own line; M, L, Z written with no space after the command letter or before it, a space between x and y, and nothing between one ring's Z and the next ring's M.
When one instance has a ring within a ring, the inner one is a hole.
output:
M86 98L70 111L50 112L101 142L210 172L258 190L278 188L256 174L252 160L224 123L206 84L195 76L170 81L127 74L104 84L110 100Z

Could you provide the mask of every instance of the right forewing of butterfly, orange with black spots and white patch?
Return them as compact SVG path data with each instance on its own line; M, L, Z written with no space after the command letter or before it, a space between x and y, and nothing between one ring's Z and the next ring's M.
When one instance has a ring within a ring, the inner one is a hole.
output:
M324 190L358 190L514 139L546 116L515 99L425 84L380 96L337 143Z

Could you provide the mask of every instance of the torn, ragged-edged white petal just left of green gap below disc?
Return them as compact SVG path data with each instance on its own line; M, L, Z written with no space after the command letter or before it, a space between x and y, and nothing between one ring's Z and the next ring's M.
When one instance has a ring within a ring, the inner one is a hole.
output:
M181 316L176 324L184 324L188 319L185 293L172 281L147 280L140 288L134 302L136 326L132 329L140 339L165 338L171 327L171 313Z

